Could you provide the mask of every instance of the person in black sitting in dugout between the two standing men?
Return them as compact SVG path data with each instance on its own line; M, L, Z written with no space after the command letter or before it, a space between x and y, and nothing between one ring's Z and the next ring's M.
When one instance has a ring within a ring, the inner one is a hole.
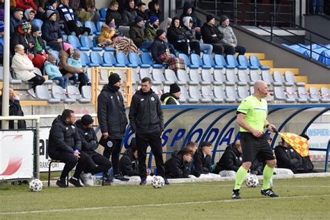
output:
M123 157L120 158L119 166L123 175L128 175L129 177L140 175L137 146L135 141L131 141L129 148L124 152Z

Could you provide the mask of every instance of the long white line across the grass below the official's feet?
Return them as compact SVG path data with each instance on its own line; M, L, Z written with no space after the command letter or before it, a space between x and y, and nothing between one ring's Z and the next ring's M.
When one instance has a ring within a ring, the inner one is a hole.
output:
M278 198L262 198L262 199L285 199L285 198L313 198L320 196L330 196L330 194L325 195L310 195L310 196L283 196ZM0 215L8 214L35 214L35 213L47 213L47 212L72 212L72 211L88 211L88 210L105 210L105 209L116 209L116 208L132 208L132 207L161 207L168 205L194 205L194 204L208 204L208 203L233 203L239 201L258 201L260 198L246 198L246 199L226 199L220 201L193 201L193 202L183 202L183 203L161 203L161 204L143 204L143 205L118 205L118 206L102 206L102 207L78 207L72 209L60 209L60 210L36 210L36 211L24 211L24 212L0 212Z

